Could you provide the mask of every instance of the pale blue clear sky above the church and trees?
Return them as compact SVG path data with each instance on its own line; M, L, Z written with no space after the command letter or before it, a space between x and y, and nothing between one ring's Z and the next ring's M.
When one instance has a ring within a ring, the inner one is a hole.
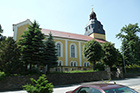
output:
M92 5L107 41L118 49L120 29L129 23L140 26L140 0L2 0L0 24L5 36L13 36L12 24L26 19L36 20L41 28L84 34Z

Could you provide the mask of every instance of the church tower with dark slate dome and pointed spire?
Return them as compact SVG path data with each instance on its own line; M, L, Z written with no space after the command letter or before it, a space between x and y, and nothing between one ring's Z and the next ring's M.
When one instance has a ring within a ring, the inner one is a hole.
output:
M85 35L96 39L106 40L105 30L100 21L97 20L95 12L92 10L89 23L85 28Z

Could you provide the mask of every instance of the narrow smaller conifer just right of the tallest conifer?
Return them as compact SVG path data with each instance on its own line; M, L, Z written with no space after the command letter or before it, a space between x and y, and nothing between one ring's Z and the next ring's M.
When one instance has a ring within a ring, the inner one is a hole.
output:
M55 42L53 40L52 34L49 34L49 37L47 41L45 42L45 61L43 65L47 65L48 67L48 72L50 71L50 68L56 67L57 66L57 52L56 52L56 47L55 47Z

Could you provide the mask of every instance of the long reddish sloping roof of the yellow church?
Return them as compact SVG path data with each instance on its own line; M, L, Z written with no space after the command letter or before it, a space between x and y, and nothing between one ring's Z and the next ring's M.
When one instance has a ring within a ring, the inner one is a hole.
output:
M52 33L52 36L54 37L61 37L61 38L67 38L67 39L74 39L74 40L82 40L82 41L89 41L93 38L86 35L80 35L80 34L74 34L74 33L68 33L68 32L62 32L62 31L56 31L56 30L50 30L50 29L42 29L41 30L44 35L49 35L49 33ZM100 43L106 42L105 40L95 39L96 41Z

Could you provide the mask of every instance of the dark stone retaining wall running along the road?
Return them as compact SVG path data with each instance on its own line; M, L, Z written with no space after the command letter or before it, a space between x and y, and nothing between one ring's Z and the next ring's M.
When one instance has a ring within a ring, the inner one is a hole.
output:
M9 76L0 80L0 91L22 89L22 86L31 83L30 78L37 79L39 76ZM110 79L106 71L87 73L58 73L48 74L47 79L53 85L66 85L95 80Z

